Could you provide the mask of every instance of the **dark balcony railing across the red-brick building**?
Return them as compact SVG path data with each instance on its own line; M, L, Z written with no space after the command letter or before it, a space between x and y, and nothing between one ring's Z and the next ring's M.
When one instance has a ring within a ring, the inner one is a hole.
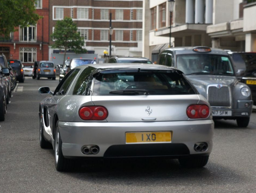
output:
M23 42L23 43L41 43L43 40L42 36L37 37L26 37L26 36L12 36L9 38L0 37L0 42Z

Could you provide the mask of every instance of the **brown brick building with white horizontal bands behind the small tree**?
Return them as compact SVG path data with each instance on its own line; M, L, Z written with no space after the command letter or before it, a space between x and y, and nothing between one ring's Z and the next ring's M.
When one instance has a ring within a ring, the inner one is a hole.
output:
M84 37L84 47L103 58L109 48L110 13L112 13L112 56L142 55L142 0L52 0L50 34L58 20L71 17ZM49 46L49 58L57 50Z

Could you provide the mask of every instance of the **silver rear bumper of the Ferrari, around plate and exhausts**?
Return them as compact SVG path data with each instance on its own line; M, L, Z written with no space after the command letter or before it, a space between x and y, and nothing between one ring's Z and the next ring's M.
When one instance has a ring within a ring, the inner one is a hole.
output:
M63 122L58 124L65 157L144 157L209 155L212 151L213 120L161 122ZM126 132L171 131L172 141L165 143L126 144ZM196 152L196 142L206 142L208 149ZM99 153L85 155L81 148L97 145Z

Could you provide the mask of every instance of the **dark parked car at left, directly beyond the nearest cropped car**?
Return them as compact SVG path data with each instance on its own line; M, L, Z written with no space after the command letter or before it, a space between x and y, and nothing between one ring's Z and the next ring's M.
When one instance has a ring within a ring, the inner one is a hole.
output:
M0 55L0 66L1 68L8 68L9 69L9 66L8 66L8 62L6 60L6 57L4 54ZM10 70L9 70L10 71ZM6 87L7 87L7 93L8 95L6 95L6 103L9 104L9 100L12 96L12 90L11 90L11 75L10 75L10 72L9 73L5 73L3 74L3 78L5 80L5 84L6 84Z

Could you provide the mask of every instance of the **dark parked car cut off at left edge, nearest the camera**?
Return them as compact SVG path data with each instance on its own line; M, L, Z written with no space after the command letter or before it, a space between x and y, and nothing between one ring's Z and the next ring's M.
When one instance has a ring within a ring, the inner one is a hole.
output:
M0 63L2 62L2 58L0 57ZM5 77L9 75L10 70L8 68L2 68L0 65L0 121L5 120L5 113L7 109L7 101L8 90L6 88Z

